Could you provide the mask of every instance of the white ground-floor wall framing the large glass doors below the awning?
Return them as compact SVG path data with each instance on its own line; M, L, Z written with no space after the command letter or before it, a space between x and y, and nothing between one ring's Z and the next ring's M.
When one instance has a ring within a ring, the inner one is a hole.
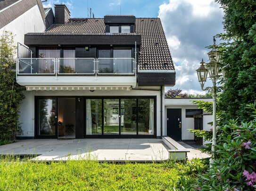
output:
M150 89L150 90L144 90L144 89ZM23 100L23 103L20 107L20 122L22 123L22 130L23 135L20 135L19 137L34 137L34 104L35 104L35 96L154 96L156 97L156 136L160 137L160 87L143 87L143 90L130 90L130 91L119 91L119 90L110 90L110 91L25 91L25 99ZM164 101L163 101L164 104ZM164 126L164 124L163 124Z

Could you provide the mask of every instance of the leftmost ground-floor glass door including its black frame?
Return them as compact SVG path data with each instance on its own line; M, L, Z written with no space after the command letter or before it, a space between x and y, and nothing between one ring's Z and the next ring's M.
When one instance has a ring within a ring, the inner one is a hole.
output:
M36 138L57 138L57 99L36 99L37 117L35 121Z

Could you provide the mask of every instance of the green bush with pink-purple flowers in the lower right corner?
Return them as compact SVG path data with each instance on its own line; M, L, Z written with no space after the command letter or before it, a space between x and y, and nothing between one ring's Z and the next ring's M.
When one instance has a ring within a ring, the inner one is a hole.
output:
M218 128L221 141L215 145L215 159L199 177L196 190L256 190L256 102L247 107L253 110L252 121L239 125L237 120L230 120Z

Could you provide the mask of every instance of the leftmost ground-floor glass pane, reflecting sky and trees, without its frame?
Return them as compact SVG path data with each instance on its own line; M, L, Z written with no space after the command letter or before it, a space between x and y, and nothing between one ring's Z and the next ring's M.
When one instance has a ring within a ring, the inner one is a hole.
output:
M39 99L38 109L38 135L55 135L56 99Z

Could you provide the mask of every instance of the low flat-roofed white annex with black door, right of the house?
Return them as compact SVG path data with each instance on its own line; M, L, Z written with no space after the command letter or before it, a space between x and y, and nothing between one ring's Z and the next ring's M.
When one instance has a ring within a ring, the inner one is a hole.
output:
M164 134L176 141L195 141L205 145L207 141L194 136L188 129L211 131L212 126L208 123L213 121L213 115L198 109L192 100L212 102L210 98L165 98Z

